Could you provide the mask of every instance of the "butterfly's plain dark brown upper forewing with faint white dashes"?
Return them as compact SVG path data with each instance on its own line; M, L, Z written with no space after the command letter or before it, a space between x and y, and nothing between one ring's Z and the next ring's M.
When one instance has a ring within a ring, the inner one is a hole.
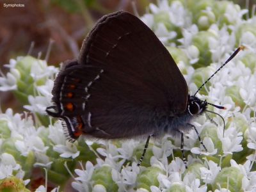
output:
M166 92L172 109L186 109L188 86L175 61L157 36L130 13L102 17L86 38L79 63L123 73L123 78L138 77ZM182 94L173 94L177 90Z

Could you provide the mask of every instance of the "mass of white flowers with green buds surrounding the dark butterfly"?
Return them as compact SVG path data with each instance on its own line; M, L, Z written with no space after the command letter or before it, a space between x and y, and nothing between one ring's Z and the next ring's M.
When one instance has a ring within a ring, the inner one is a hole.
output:
M227 108L208 108L224 118L225 131L223 120L214 113L192 122L207 151L196 132L188 132L184 139L188 170L180 159L179 138L152 141L141 167L136 162L145 141L81 138L68 143L60 121L45 116L58 68L26 56L10 60L6 65L10 72L0 77L0 90L12 90L29 111L13 114L7 109L0 114L0 180L28 179L24 177L28 170L23 169L28 162L31 169L44 167L51 170L48 174L54 173L51 178L65 180L66 173L59 168L64 161L57 160L69 158L73 164L65 164L68 171L81 161L76 176L73 170L68 173L77 191L255 191L256 17L244 19L246 15L248 10L228 1L163 0L150 4L141 17L172 54L191 94L236 47L246 47L196 95ZM37 191L45 190L40 186Z

